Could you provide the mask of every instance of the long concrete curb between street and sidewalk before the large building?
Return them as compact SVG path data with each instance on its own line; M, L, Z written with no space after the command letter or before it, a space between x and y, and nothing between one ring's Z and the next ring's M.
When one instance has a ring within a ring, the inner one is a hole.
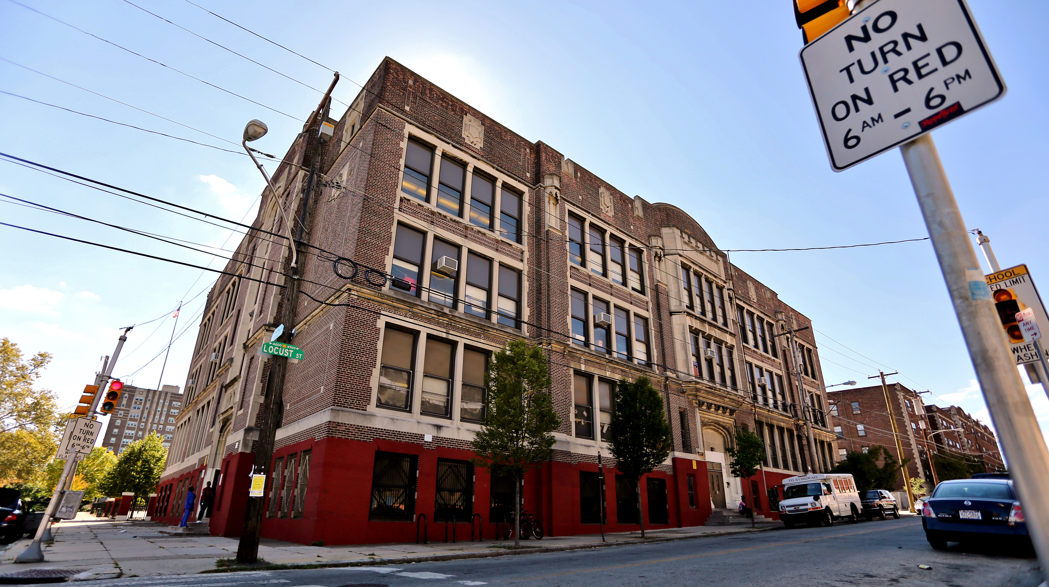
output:
M314 568L333 568L333 567L367 567L367 566L379 566L379 565L407 565L411 563L431 563L438 561L459 561L466 559L490 559L494 557L511 557L516 555L537 555L540 552L559 552L564 550L585 550L590 548L606 548L611 546L628 546L635 544L655 544L659 542L673 542L677 540L692 540L698 538L713 538L722 536L735 536L740 534L753 534L763 532L776 529L776 527L771 528L741 528L732 531L725 532L708 532L699 534L691 536L672 536L664 538L646 538L644 540L630 540L622 542L593 542L587 544L571 544L566 546L539 546L536 548L521 548L521 549L501 549L500 551L490 551L490 552L464 552L462 555L431 555L429 557L402 557L398 559L379 559L373 561L330 561L327 563L287 563L287 564L267 564L264 566L235 566L226 568L208 569L200 571L199 574L205 573L215 573L215 572L239 572L247 570L283 570L283 569L314 569Z

